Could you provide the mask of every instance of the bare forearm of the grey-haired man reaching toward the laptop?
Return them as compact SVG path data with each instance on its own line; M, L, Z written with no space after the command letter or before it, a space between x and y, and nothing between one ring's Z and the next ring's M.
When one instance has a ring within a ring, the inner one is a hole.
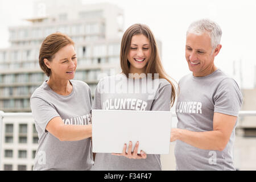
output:
M226 141L221 131L195 132L183 129L176 129L175 137L191 146L203 150L224 150Z

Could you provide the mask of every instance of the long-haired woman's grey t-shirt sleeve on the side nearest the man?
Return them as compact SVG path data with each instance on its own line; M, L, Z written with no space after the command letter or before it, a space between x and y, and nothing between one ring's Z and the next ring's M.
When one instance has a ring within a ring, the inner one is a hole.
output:
M165 85L158 90L155 100L152 102L151 110L170 111L172 86Z

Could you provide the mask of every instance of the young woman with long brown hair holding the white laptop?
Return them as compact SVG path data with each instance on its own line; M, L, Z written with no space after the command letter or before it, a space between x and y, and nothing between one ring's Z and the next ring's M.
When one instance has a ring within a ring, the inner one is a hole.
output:
M164 72L155 38L147 26L134 24L125 31L120 61L122 73L98 83L92 109L170 111L175 86ZM139 142L134 151L132 145L125 144L122 154L96 154L93 170L161 170L160 155L137 154Z

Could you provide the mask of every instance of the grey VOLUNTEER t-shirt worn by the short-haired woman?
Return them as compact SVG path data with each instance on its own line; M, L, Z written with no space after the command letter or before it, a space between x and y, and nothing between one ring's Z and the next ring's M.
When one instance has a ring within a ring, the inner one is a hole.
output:
M68 96L53 92L43 82L30 98L39 137L34 170L89 170L93 166L90 138L61 142L46 130L48 122L55 117L61 117L65 125L91 123L90 88L85 82L70 81L73 89Z

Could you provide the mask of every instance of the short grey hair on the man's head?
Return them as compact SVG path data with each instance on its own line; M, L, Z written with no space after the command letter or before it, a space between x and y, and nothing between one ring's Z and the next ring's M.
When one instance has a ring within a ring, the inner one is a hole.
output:
M220 26L217 23L213 22L209 19L200 19L190 24L187 30L188 33L201 35L205 31L207 31L210 35L210 40L212 44L212 48L216 48L218 44L220 44L222 31Z

